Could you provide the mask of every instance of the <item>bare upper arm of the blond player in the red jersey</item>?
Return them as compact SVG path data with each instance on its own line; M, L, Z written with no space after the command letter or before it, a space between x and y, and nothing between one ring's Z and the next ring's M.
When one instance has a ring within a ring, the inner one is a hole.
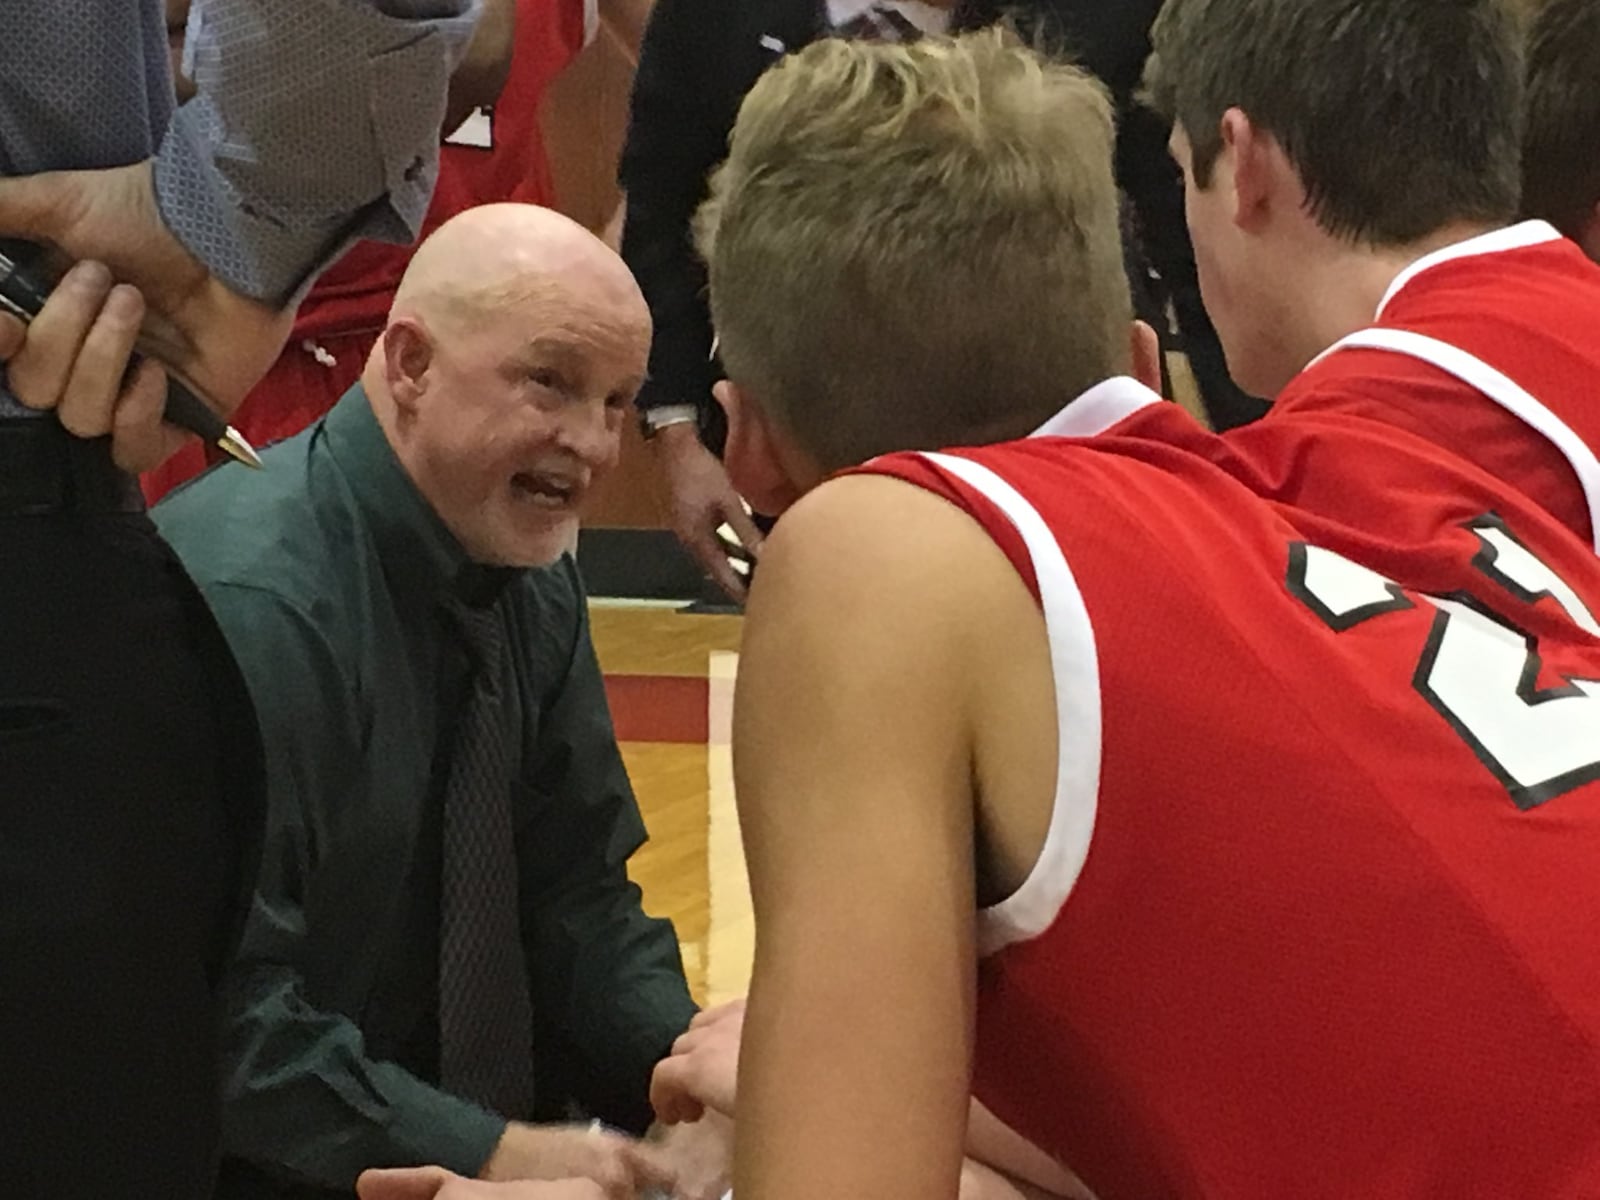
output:
M970 518L880 478L826 485L768 546L734 718L757 917L734 1194L955 1197L973 630L1008 568Z

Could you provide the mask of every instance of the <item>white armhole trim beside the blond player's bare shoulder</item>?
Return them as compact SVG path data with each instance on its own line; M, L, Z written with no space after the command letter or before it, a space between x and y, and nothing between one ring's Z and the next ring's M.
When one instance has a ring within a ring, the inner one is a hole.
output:
M990 955L1048 930L1088 859L1099 806L1099 656L1083 594L1045 518L989 467L954 454L923 454L941 470L981 491L1022 534L1038 579L1056 686L1056 795L1038 862L1011 896L978 914L978 952Z

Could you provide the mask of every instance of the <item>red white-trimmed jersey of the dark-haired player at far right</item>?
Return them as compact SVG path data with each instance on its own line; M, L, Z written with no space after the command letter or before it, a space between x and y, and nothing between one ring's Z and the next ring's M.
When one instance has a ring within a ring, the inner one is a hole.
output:
M1336 422L1366 421L1477 464L1600 549L1600 267L1542 221L1429 254L1400 274L1371 328L1227 442L1258 472L1254 490L1301 502L1307 429L1326 438Z

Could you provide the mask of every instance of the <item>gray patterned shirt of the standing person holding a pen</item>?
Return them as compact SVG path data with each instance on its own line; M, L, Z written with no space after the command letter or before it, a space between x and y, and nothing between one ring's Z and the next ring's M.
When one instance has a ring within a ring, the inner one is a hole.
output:
M410 242L478 0L195 0L176 114L162 0L5 0L0 173L155 155L162 214L285 302L355 237Z

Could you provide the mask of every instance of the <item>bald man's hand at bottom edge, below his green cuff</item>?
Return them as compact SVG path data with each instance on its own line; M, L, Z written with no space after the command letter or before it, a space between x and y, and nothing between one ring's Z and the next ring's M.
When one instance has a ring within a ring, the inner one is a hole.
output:
M606 1200L635 1200L656 1187L670 1192L672 1165L654 1146L584 1125L506 1126L483 1168L483 1178L507 1179L589 1179Z

